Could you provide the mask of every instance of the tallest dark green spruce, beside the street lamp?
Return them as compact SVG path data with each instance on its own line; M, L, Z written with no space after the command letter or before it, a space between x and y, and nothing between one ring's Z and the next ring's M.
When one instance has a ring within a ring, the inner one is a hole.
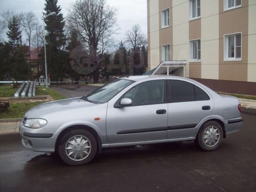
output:
M45 30L47 31L46 38L46 54L48 73L51 80L62 80L66 75L68 56L63 51L65 44L64 36L64 18L60 13L61 8L57 5L57 0L45 0ZM47 16L51 12L56 12L56 15Z

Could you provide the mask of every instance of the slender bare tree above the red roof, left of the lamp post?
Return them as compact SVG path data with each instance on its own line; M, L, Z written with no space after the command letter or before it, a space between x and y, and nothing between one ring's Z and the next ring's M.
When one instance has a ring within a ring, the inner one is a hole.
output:
M29 48L29 60L31 64L31 56L30 56L30 49L31 49L31 41L32 41L32 34L35 30L36 23L38 23L38 19L36 18L35 14L32 11L29 12L21 12L19 14L20 18L20 25L24 33L26 34L27 41L28 41L28 48Z

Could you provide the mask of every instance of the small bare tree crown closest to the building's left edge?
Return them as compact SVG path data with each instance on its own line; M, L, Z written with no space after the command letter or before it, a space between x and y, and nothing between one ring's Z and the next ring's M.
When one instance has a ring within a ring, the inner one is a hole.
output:
M141 32L140 26L138 24L132 26L131 30L128 30L125 33L126 42L132 50L136 50L137 48L141 48L143 45L147 45L147 39L145 35Z

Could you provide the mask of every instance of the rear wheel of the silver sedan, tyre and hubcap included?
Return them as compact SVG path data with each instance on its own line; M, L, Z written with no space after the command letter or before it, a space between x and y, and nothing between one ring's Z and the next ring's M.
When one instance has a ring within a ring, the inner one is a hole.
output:
M223 139L222 126L214 121L210 120L203 124L200 128L196 143L203 151L214 151L218 149Z

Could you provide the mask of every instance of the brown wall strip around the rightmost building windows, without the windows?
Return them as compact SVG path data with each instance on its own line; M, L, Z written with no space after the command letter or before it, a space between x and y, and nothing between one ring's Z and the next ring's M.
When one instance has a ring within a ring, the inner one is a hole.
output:
M242 33L242 60L224 61L223 36ZM219 0L219 79L247 81L248 79L248 0L242 7L223 11L223 0Z

